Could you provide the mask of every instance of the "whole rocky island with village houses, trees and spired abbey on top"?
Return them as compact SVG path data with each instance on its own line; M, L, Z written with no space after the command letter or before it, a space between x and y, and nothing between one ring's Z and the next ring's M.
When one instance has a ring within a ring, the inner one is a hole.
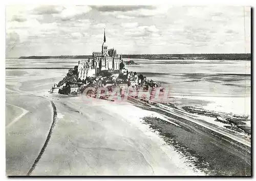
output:
M134 61L133 64L137 65ZM148 90L149 88L159 88L161 83L146 79L143 74L129 71L125 68L125 61L122 55L118 55L116 49L108 48L104 31L101 51L94 51L88 60L78 61L78 65L70 69L67 75L58 84L54 84L51 93L79 95L88 87L94 87L94 97L97 88L107 88L110 92L119 92L124 95L124 91L138 92L138 90ZM163 89L161 89L163 90ZM91 92L92 94L92 92ZM100 96L106 98L110 94ZM138 96L136 96L138 97ZM141 97L145 99L145 97ZM148 102L148 101L147 101Z

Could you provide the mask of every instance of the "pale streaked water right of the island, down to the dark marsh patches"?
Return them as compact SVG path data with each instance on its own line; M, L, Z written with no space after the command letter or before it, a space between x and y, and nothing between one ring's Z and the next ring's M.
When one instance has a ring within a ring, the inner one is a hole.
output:
M169 97L187 106L205 100L210 111L250 115L251 62L240 60L133 60L139 65L126 66L148 79L159 81L168 88ZM169 99L169 101L175 101ZM207 106L207 107L206 107Z

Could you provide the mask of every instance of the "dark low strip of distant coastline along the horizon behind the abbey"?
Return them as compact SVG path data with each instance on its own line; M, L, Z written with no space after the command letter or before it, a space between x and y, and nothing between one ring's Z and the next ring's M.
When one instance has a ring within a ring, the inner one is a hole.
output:
M92 56L30 56L19 59L88 59ZM160 60L251 60L251 54L140 54L122 55L130 59L160 59Z

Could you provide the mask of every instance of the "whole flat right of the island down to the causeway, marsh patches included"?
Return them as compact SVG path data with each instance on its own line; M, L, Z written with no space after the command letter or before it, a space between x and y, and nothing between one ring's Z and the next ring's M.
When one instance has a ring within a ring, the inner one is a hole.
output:
M194 114L250 140L250 61L135 60L129 69L147 74L168 89L167 106ZM241 68L243 67L243 68Z

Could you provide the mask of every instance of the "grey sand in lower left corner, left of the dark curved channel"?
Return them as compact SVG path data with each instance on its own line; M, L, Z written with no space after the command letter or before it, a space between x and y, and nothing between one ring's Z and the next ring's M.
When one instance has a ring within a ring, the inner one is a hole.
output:
M52 123L52 108L49 100L31 95L7 93L6 102L27 110L22 117L6 114L7 120L14 121L6 126L6 173L26 175L44 145Z

